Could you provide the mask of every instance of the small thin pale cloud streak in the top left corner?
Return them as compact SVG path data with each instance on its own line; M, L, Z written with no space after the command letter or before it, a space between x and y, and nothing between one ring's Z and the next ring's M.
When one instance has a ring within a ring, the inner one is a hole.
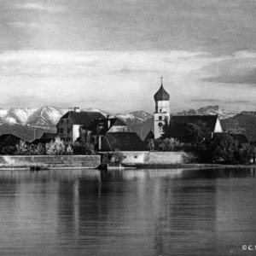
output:
M23 10L36 10L48 12L51 14L63 13L66 12L67 9L61 5L46 5L44 3L23 3L23 4L15 4L15 9L23 9Z

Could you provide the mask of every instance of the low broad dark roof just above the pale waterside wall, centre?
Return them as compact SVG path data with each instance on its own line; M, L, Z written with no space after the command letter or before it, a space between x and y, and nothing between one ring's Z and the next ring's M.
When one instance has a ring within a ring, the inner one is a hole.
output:
M108 132L102 139L102 151L147 151L136 132Z

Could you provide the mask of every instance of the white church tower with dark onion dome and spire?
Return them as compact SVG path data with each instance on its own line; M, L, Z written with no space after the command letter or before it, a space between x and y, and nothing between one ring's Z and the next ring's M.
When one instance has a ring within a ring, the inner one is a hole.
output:
M165 119L170 121L170 95L163 87L163 81L161 78L160 90L154 95L155 112L154 112L154 138L160 138L163 133L163 125L165 125Z

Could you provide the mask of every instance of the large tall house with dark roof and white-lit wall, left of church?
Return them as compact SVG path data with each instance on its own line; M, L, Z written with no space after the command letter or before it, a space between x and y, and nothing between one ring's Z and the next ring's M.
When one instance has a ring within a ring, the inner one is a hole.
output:
M64 141L75 142L82 131L91 131L91 125L99 119L106 119L100 112L84 112L79 108L65 113L57 123L57 135Z

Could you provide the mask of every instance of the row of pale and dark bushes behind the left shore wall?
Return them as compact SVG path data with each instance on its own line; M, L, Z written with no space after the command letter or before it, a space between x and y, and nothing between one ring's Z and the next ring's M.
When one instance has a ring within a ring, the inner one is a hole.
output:
M95 154L91 143L66 143L60 137L55 137L50 143L38 145L20 140L15 146L0 147L0 154L9 155L55 155L55 154Z

